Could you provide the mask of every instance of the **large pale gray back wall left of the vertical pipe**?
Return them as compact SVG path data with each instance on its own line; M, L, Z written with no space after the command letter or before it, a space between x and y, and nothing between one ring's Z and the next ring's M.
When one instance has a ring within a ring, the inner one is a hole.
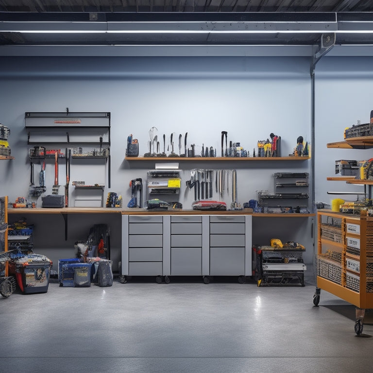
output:
M16 157L0 163L0 194L8 195L9 201L27 196L30 183L25 111L63 112L68 107L70 112L111 112L112 180L111 189L105 188L105 198L108 191L117 192L123 196L124 205L131 197L129 181L146 179L146 171L155 163L124 159L130 133L138 139L141 155L147 152L148 131L153 126L158 137L188 132L188 146L213 146L218 154L223 130L228 131L228 142L241 142L250 154L257 140L267 139L271 132L282 138L282 155L292 153L298 136L311 139L311 80L306 57L2 57L0 71L0 122L11 129L9 142ZM240 203L256 199L257 190L273 192L275 171L311 172L310 161L180 163L180 202L184 208L190 208L194 200L193 191L185 187L190 169L210 167L237 169ZM63 162L59 170L63 184ZM70 180L106 183L104 172L104 164L75 164ZM51 193L52 162L47 164L46 173L47 193ZM70 190L73 201L73 188ZM224 200L230 203L229 197ZM47 221L60 231L37 243L46 250L69 250L73 240L87 236L91 221L86 219L83 216L82 221L88 221L84 229L70 232L68 241L61 238L61 221ZM257 220L253 243L269 244L268 227L275 226L278 238L312 246L311 222L284 220ZM293 230L287 229L289 224ZM47 229L44 224L36 229L41 226ZM119 247L120 237L113 235L112 244ZM52 260L61 253L50 254ZM312 263L312 255L312 250L306 253L307 262Z

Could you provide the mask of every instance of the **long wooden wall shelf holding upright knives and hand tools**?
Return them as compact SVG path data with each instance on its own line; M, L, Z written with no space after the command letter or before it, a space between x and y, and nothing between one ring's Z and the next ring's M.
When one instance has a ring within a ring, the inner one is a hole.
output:
M305 161L310 157L125 157L127 161Z

